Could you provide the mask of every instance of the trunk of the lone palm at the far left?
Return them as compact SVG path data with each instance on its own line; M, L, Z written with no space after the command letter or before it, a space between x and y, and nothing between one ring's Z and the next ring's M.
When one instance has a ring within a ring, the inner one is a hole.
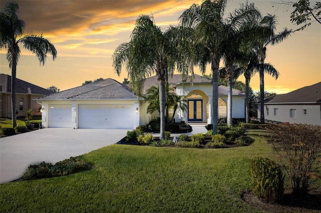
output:
M16 74L17 74L17 54L12 55L12 67L11 67L11 113L12 113L12 127L15 128L17 125L17 114L16 114Z

